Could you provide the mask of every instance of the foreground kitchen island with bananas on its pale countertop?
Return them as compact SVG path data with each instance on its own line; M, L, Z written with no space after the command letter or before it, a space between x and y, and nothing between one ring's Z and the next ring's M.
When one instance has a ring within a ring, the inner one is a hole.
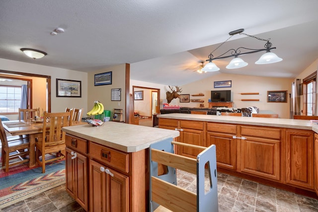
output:
M105 122L63 128L66 190L86 211L144 212L149 208L149 146L178 131Z

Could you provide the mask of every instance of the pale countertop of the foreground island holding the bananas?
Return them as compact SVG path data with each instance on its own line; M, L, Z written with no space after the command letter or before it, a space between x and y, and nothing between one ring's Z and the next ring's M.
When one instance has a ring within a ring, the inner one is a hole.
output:
M139 125L105 122L100 127L78 125L64 127L67 134L93 141L124 152L136 152L149 148L150 144L178 137L178 131Z

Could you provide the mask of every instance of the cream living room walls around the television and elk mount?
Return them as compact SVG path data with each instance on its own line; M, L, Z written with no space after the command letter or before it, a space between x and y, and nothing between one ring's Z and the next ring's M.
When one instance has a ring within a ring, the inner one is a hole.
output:
M214 81L232 80L232 87L230 88L214 88ZM154 84L143 81L130 80L131 85L152 87L160 89L160 108L162 103L166 103L165 92L169 90L167 85ZM279 114L280 118L289 119L290 111L290 97L291 83L293 79L290 78L272 78L272 77L259 77L247 76L237 74L220 73L218 75L207 77L203 80L192 82L189 84L180 85L182 88L181 94L190 94L190 99L197 99L198 97L191 96L192 94L203 93L204 106L208 107L208 100L211 98L211 90L232 90L231 96L234 102L234 107L249 107L256 106L263 112L272 112ZM132 90L132 88L131 88ZM288 98L287 103L273 103L267 102L267 91L270 90L287 90ZM259 95L240 95L240 93L258 92ZM259 99L259 101L241 101L241 99ZM183 107L199 107L200 103L180 103L179 99L173 99L170 105L180 105ZM202 103L201 103L202 104Z

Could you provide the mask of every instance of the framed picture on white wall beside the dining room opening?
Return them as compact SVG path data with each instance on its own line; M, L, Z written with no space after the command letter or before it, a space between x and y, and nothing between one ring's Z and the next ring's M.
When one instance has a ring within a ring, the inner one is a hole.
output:
M81 97L81 81L56 79L56 97Z

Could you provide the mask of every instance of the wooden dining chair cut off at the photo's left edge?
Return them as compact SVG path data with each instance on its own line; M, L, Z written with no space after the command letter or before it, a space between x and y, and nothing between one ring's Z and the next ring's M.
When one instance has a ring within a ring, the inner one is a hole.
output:
M9 171L10 166L25 163L29 158L30 142L29 137L10 136L7 137L0 119L0 140L2 145L2 166L5 166L5 172ZM11 162L10 162L11 161Z

